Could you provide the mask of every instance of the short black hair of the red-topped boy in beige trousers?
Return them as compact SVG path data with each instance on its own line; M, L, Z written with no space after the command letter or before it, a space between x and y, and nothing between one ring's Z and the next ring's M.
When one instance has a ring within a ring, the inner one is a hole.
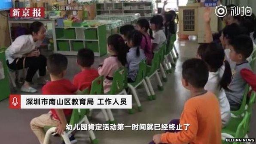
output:
M67 69L67 57L62 54L52 54L47 59L47 70L52 75L59 75Z

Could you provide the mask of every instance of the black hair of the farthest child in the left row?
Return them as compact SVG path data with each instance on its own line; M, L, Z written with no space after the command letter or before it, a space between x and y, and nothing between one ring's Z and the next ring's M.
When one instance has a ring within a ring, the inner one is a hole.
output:
M177 23L179 22L179 17L176 14L174 10L170 10L168 12L165 12L165 35L167 36L167 30L169 30L170 33L175 34L175 19L177 19ZM168 25L167 25L168 24Z

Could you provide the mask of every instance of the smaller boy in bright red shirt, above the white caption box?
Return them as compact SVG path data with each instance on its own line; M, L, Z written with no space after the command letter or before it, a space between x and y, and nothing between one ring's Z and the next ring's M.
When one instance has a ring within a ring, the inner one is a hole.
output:
M84 90L87 87L91 89L91 82L99 76L96 69L91 68L94 63L94 53L88 48L82 48L78 51L76 63L79 65L82 72L75 75L73 84L79 90Z

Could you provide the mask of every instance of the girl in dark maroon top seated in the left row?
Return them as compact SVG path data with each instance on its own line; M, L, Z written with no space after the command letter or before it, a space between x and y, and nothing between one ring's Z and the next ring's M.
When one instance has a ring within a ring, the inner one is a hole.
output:
M152 37L152 30L149 27L149 21L146 20L145 18L138 20L136 29L143 34L140 48L144 50L147 63L151 64L151 60L153 58L151 39L154 39L154 38ZM148 33L148 30L149 30L149 33Z

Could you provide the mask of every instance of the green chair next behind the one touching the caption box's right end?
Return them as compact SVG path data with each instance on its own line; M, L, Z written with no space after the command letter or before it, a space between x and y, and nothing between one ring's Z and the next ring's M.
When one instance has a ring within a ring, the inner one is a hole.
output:
M150 78L155 75L156 76L156 79L158 81L158 90L164 90L164 87L163 87L163 84L162 84L162 81L160 79L160 76L158 74L158 69L159 69L159 65L160 65L160 62L159 62L159 52L160 51L156 51L155 54L154 54L154 57L152 59L152 65L151 66L146 66L146 82L148 83L149 85L149 90L152 89L152 84L150 82ZM154 95L154 94L152 94Z

